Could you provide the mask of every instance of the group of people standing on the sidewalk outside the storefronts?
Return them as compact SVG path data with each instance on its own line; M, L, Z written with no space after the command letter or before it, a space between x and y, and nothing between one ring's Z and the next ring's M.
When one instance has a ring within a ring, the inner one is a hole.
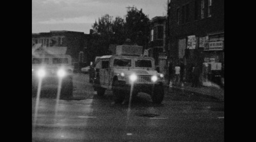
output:
M169 62L169 83L172 82L172 85L183 86L185 78L185 64L182 60L179 62ZM198 64L192 65L188 69L188 73L191 75L191 87L200 87L200 67Z

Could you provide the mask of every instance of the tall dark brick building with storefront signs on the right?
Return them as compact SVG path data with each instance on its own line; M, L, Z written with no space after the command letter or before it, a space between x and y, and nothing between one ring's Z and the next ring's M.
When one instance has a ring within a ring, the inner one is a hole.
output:
M168 59L184 60L187 75L195 64L224 64L224 0L172 0L167 20Z

